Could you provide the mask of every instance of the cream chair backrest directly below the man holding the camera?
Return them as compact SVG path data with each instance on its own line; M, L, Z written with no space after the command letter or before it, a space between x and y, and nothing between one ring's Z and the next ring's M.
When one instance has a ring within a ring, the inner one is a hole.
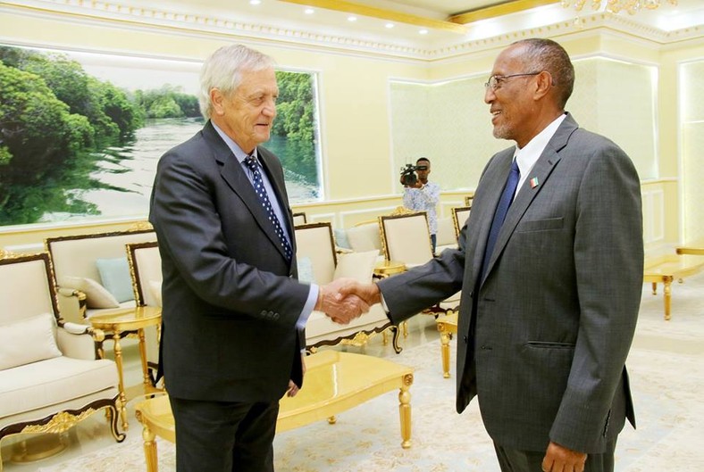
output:
M432 243L425 211L379 217L387 261L424 264L432 259Z

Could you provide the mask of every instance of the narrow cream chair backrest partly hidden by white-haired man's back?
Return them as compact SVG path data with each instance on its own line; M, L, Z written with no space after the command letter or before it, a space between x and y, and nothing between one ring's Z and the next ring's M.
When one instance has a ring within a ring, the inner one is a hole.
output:
M130 276L138 306L161 306L162 257L156 241L125 244Z

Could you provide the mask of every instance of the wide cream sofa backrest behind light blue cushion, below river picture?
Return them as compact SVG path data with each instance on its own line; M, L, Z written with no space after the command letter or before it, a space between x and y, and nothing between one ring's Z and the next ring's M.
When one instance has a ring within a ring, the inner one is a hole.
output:
M56 236L44 244L54 265L54 277L88 277L100 281L96 261L125 257L125 244L155 241L154 229L136 229L92 235Z

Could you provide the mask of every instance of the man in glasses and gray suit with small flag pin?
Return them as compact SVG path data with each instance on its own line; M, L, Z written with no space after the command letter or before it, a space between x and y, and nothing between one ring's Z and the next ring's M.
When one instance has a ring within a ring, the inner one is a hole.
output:
M635 426L624 363L641 301L640 181L565 112L573 84L553 41L499 54L484 101L494 136L516 145L483 170L460 248L339 295L383 299L398 323L462 289L457 412L477 396L504 472L611 471L625 418Z

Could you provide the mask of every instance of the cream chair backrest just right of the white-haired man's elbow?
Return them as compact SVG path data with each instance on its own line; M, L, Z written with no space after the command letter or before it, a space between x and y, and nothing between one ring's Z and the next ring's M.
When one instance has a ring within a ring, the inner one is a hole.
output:
M327 284L335 274L338 263L332 225L329 222L299 225L296 232L296 257L310 259L315 283Z

